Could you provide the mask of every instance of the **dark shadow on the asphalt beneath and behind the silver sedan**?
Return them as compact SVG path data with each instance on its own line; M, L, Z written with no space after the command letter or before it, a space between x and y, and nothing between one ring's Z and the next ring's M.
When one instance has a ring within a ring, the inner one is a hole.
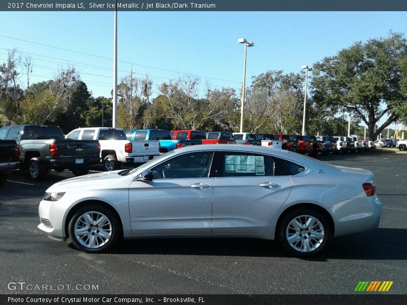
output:
M123 240L110 253L289 257L275 241L246 238L129 239ZM328 251L307 260L406 260L405 253L407 229L378 228L337 237Z

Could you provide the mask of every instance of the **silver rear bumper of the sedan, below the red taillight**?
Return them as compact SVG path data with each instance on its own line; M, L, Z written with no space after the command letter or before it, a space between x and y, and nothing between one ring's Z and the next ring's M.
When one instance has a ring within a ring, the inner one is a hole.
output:
M375 195L354 198L329 210L335 222L335 236L344 236L376 229L382 216L382 202Z

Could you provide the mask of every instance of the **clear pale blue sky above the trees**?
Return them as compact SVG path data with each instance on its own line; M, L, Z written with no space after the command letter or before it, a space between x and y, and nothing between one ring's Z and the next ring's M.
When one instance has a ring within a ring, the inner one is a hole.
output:
M407 12L118 12L118 77L134 72L158 85L198 76L199 94L246 84L268 70L298 73L353 43L405 32ZM0 12L0 63L9 49L30 55L30 83L73 66L94 97L110 97L113 12ZM26 79L20 80L23 87Z

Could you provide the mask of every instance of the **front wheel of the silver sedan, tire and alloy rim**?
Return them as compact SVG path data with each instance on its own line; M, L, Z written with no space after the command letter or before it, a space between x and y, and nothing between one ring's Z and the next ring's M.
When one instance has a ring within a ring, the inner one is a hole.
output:
M90 253L108 250L123 235L118 217L110 209L97 205L76 211L69 222L68 231L73 245Z

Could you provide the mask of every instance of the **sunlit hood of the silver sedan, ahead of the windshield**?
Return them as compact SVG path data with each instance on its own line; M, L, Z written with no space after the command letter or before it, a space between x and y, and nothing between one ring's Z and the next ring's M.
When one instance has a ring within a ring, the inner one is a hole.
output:
M86 186L95 186L95 185L106 185L111 184L113 180L123 178L122 175L118 173L122 170L116 170L111 172L104 172L104 173L97 173L97 174L90 174L85 176L74 177L70 179L66 179L60 182L56 182L56 184L52 185L48 190L52 192L53 190L60 191L61 189L69 189L73 187L86 187Z

